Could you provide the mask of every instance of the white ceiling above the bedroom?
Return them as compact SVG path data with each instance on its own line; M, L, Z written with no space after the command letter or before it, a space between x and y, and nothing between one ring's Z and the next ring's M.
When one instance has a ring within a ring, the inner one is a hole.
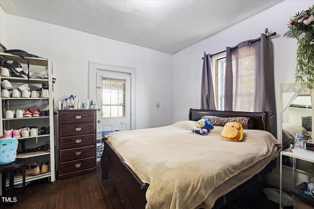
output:
M174 54L282 1L0 0L0 5L8 14Z

